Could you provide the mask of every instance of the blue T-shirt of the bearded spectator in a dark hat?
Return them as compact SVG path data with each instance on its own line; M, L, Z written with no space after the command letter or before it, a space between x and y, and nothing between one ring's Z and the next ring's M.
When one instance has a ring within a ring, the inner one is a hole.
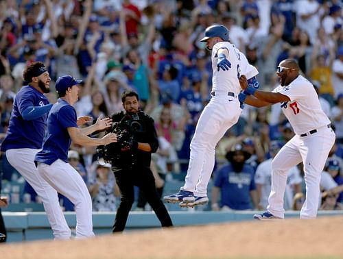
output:
M233 210L249 210L250 190L255 190L254 169L244 164L241 173L235 173L230 164L226 164L215 175L214 186L220 188L221 206Z

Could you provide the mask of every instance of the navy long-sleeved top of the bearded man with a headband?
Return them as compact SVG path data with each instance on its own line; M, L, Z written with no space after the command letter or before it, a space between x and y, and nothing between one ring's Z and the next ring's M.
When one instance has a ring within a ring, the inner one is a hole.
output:
M1 151L8 149L40 149L45 135L47 114L25 121L21 113L29 106L45 106L49 101L32 86L23 86L14 98L10 123L1 143Z

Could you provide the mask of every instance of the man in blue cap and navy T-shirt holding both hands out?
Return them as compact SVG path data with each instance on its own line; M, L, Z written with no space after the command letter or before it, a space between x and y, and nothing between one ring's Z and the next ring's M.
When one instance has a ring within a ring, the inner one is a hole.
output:
M78 127L73 104L78 100L80 82L82 81L71 75L58 77L55 88L59 99L47 117L47 132L42 150L34 157L40 177L74 204L77 218L76 238L94 236L94 233L91 195L80 173L67 160L71 141L84 146L108 145L117 141L117 135L113 133L106 134L103 138L88 137L97 130L110 127L112 120L109 118L99 117L94 125ZM54 208L53 212L60 214L62 210ZM70 230L66 234L68 235L64 238L70 238Z

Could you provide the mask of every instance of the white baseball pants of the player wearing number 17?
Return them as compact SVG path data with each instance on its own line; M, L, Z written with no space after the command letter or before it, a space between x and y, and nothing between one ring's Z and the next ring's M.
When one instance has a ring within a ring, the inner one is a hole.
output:
M287 182L287 171L303 161L306 199L300 211L300 219L315 219L318 212L320 177L331 147L335 143L335 133L327 126L305 137L294 136L272 160L272 190L267 210L275 217L283 219L283 196Z

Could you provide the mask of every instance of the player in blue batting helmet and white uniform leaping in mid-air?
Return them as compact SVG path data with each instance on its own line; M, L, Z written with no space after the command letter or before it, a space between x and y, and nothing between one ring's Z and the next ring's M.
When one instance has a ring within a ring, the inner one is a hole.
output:
M180 206L207 204L207 185L215 163L215 146L225 132L237 123L241 114L238 95L241 92L241 66L248 78L258 71L235 45L228 42L228 29L223 25L206 28L202 42L212 51L211 101L200 115L191 140L191 155L185 185L174 195L165 196L167 202L181 202ZM258 85L258 82L257 82Z

